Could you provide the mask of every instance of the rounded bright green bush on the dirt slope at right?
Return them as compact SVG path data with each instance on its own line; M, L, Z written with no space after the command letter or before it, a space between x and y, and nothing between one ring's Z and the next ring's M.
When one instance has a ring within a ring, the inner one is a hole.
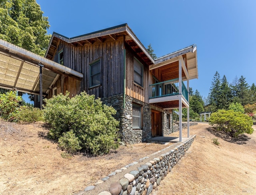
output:
M252 118L234 110L218 110L212 113L209 123L216 127L216 130L223 131L231 137L238 137L242 133L253 133Z

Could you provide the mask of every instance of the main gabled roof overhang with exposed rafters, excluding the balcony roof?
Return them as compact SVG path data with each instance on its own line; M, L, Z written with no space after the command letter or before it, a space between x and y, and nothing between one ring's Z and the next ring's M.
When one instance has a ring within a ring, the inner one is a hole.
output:
M132 50L134 50L134 52L136 52L138 56L140 56L140 58L142 58L142 60L146 64L154 64L154 59L148 53L148 50L142 45L140 40L136 37L134 32L132 32L132 30L127 24L121 24L119 26L106 28L81 36L76 36L73 38L68 38L66 36L54 32L52 34L52 38L50 40L50 44L46 51L45 57L50 60L53 59L53 56L55 55L60 40L67 42L68 44L72 44L74 46L85 46L90 44L104 43L108 40L118 40L118 38L122 38L122 40L124 40L126 44L128 44L132 48Z

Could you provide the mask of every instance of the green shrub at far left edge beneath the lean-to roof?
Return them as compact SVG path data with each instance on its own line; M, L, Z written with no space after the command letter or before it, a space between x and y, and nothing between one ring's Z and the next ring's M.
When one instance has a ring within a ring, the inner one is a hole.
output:
M20 103L23 101L16 91L0 94L0 117L7 121L16 121L15 115L20 111Z

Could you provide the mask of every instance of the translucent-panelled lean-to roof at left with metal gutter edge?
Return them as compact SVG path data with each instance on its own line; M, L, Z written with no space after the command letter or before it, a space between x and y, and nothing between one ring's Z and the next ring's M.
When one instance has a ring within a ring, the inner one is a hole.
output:
M83 78L83 74L0 39L0 87L39 94L42 66L43 94L48 94L59 74Z

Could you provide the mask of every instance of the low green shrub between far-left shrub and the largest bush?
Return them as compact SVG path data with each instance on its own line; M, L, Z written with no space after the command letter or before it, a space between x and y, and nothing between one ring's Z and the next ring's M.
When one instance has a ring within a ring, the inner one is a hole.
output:
M43 120L43 110L37 107L22 106L20 111L15 115L16 121L32 123Z

